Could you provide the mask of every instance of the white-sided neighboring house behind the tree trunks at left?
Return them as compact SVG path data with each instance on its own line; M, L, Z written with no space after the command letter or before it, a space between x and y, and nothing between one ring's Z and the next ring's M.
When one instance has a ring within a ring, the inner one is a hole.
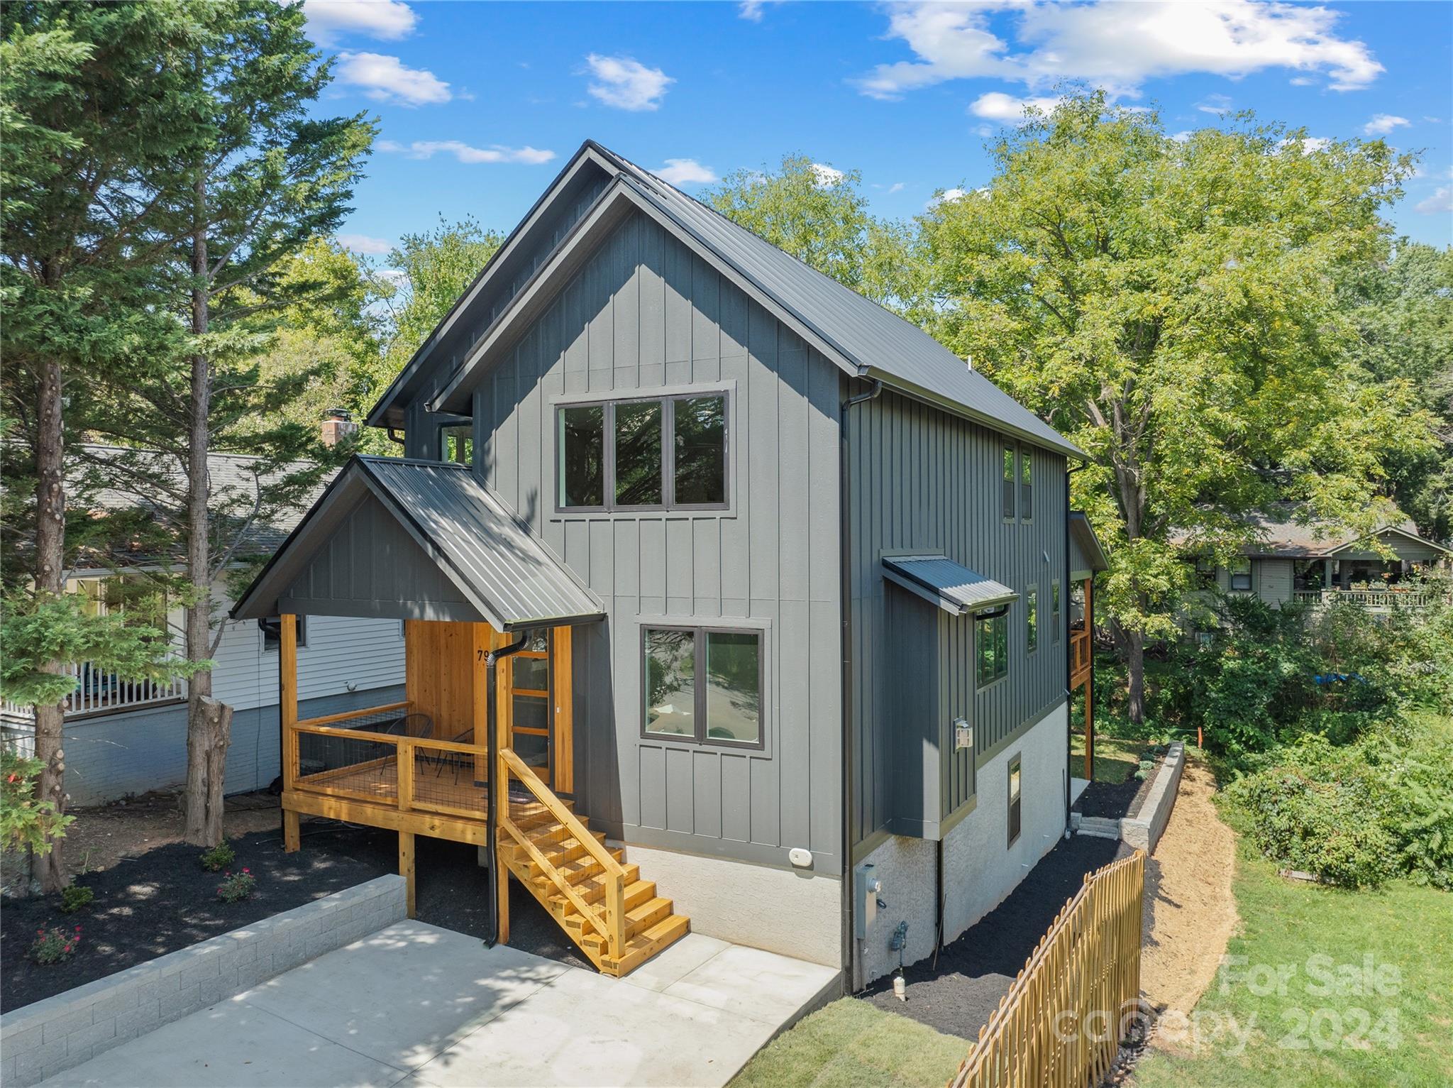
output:
M87 447L105 453L105 447ZM214 488L246 487L253 458L212 455ZM325 482L325 481L324 481ZM321 491L321 487L320 487ZM311 501L312 497L309 497ZM103 492L97 506L134 506L124 491ZM305 508L305 507L304 507ZM276 549L301 510L248 530L251 555ZM125 607L128 581L155 569L161 559L134 556L126 567L89 562L67 572L67 590L90 598L89 609ZM234 709L227 752L227 792L266 789L279 774L278 641L256 620L230 620L227 588L214 585L221 642L214 655L212 693ZM180 632L182 612L167 616ZM398 620L346 620L318 616L299 629L299 697L309 715L352 710L402 697L404 636ZM74 662L76 690L65 700L65 789L73 805L99 805L128 795L179 786L186 779L186 683L125 681ZM384 689L381 691L381 689ZM33 734L31 707L0 705L7 744L28 747Z

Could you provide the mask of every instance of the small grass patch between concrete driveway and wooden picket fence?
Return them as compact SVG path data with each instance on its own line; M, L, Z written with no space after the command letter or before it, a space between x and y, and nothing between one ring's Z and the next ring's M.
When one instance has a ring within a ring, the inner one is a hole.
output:
M731 1088L920 1088L943 1085L969 1053L962 1039L841 998L774 1039Z

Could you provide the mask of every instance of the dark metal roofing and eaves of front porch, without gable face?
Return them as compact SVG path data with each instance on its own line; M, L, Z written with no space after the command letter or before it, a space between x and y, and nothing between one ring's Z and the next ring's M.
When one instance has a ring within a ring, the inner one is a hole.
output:
M353 458L241 596L232 616L269 609L312 552L307 530L337 497L362 482L404 524L495 630L583 623L604 609L462 465Z

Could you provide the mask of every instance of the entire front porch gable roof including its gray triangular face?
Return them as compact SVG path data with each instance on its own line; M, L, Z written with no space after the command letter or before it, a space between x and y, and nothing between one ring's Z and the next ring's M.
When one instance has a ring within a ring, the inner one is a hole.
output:
M495 630L590 623L600 601L462 465L353 458L232 609L472 620Z

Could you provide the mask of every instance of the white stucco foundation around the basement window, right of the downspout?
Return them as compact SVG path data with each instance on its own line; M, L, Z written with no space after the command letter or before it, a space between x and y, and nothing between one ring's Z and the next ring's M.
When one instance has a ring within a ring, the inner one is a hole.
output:
M1065 832L1068 709L1061 703L979 767L978 806L943 840L944 944L998 906ZM1020 755L1020 834L1008 845L1008 761Z

